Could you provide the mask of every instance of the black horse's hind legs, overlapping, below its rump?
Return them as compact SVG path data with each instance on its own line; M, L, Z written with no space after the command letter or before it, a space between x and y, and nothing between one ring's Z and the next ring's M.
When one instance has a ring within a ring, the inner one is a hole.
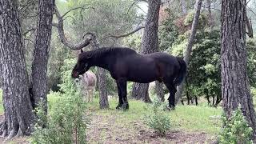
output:
M170 78L168 82L164 82L164 83L165 83L167 89L170 92L170 96L168 98L169 107L170 107L170 109L175 109L175 93L176 93L177 90L174 86L173 79Z

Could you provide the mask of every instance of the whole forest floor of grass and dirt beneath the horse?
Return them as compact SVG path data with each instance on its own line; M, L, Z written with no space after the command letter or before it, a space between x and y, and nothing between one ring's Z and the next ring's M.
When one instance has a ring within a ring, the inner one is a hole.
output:
M143 122L149 104L130 100L130 109L122 111L114 109L116 100L110 99L108 110L99 110L98 99L88 104L88 143L212 143L221 127L221 108L178 105L176 110L166 111L170 114L171 130L162 137ZM2 138L0 143L3 143ZM29 141L28 138L15 138L8 143Z

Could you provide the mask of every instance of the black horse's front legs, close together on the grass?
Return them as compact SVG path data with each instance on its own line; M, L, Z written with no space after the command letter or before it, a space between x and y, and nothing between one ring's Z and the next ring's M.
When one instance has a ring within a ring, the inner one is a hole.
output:
M118 86L120 88L120 93L122 97L122 109L127 110L129 109L129 104L127 100L127 81L125 78L123 79L118 79ZM120 98L120 97L119 97Z

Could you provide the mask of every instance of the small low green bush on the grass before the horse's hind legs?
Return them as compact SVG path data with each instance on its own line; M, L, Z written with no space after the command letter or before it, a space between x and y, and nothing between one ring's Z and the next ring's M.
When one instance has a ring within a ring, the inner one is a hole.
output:
M163 111L165 106L158 98L154 98L144 117L145 124L161 136L165 135L167 130L170 130L170 115Z

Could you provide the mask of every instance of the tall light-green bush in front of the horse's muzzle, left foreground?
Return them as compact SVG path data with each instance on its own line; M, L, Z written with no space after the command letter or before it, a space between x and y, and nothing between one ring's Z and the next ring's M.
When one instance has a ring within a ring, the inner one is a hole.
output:
M67 59L62 66L63 94L51 92L48 97L56 97L54 104L50 102L48 115L44 115L42 107L36 112L38 122L32 134L32 143L86 143L86 106L80 96L78 85L70 77L74 59ZM54 98L50 98L52 101ZM47 122L42 128L42 122Z

